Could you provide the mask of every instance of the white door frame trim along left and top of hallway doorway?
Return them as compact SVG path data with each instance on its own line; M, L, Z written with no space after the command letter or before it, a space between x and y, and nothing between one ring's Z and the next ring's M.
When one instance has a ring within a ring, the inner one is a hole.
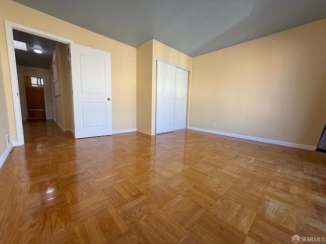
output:
M15 125L16 125L16 134L17 134L17 141L14 141L13 145L18 146L24 144L24 134L22 128L22 117L21 117L21 108L20 108L20 99L19 99L19 86L18 86L18 75L17 75L17 65L16 65L16 56L15 56L15 48L14 48L13 29L17 29L18 31L21 32L29 33L35 36L43 37L46 39L65 43L68 45L70 43L73 43L73 41L63 37L52 35L50 33L39 31L38 29L34 29L28 26L24 26L21 24L17 24L5 20L9 71L10 71L11 90L12 90L12 98L14 104Z

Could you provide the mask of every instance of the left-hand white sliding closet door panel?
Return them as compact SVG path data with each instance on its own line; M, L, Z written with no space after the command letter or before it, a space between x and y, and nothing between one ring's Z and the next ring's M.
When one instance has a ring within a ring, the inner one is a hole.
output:
M174 130L176 67L157 61L156 133Z

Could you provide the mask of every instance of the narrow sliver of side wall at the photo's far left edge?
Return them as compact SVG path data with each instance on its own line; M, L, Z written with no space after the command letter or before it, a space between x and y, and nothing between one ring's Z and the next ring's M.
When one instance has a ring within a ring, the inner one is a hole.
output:
M0 49L0 53L2 50ZM0 157L7 149L6 134L10 132L7 113L5 82L3 79L2 65L0 60ZM1 165L0 165L1 167Z

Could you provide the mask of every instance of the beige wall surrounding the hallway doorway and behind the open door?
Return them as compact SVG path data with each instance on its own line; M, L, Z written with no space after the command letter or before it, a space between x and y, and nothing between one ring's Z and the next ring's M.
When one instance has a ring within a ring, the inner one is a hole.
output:
M87 31L55 17L1 0L0 50L5 82L10 132L16 140L15 117L11 94L8 52L4 20L29 26L40 31L73 40L75 43L111 53L113 130L136 127L136 49L110 38ZM0 135L2 137L2 135Z

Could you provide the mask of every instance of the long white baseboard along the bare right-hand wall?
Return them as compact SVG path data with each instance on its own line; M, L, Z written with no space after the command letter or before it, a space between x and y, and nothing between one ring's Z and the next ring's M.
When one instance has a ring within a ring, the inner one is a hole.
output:
M265 139L265 138L254 137L254 136L244 136L244 135L238 135L238 134L227 133L227 132L222 132L222 131L201 129L201 128L196 128L196 127L188 127L188 129L194 130L194 131L212 133L212 134L216 134L216 135L231 136L231 137L247 139L247 140L252 140L252 141L266 142L266 143L276 144L276 145L281 145L281 146L301 148L301 149L312 150L312 151L314 151L316 149L316 146L297 144L297 143L292 143L292 142L287 142L287 141L271 140L271 139Z

